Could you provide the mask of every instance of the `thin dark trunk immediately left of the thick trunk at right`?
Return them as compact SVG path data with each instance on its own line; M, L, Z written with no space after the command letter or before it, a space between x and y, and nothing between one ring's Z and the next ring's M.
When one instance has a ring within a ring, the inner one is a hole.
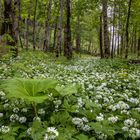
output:
M104 58L104 54L103 54L103 22L102 22L102 13L100 15L100 56L101 59Z

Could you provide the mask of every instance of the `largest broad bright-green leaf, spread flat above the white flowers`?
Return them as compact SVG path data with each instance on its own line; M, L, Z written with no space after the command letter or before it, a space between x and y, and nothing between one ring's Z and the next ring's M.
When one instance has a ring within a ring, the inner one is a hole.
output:
M11 79L2 85L9 98L21 98L42 103L48 98L46 91L55 88L57 81L51 79Z

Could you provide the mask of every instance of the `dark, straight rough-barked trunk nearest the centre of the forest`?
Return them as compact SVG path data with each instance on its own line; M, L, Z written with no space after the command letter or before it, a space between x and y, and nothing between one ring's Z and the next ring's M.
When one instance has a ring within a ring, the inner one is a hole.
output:
M66 0L66 16L67 16L67 21L66 21L66 26L65 26L65 51L64 54L67 59L72 58L72 46L71 46L71 26L70 26L70 19L71 19L71 8L70 8L71 2L70 0Z

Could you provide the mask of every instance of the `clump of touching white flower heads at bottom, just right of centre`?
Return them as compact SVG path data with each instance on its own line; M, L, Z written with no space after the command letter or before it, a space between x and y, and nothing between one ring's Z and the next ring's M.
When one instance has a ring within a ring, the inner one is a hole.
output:
M90 127L86 124L88 123L88 119L86 117L83 118L73 118L72 123L77 126L78 129L83 130L83 131L89 131Z

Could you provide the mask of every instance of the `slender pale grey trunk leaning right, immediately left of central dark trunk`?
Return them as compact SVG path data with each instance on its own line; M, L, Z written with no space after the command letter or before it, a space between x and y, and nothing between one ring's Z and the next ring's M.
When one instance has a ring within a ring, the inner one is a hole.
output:
M60 17L58 24L58 41L56 46L56 57L59 57L61 53L61 45L62 45L62 21L63 21L63 0L60 0Z

